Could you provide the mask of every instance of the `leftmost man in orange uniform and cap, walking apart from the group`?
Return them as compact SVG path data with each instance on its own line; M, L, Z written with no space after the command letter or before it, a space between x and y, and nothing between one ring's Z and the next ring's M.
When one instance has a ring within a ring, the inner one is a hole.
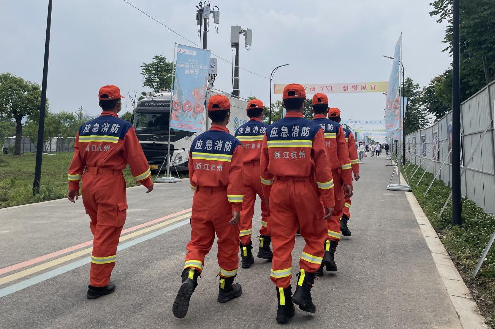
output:
M122 170L129 164L131 173L149 193L153 190L150 166L143 154L134 127L119 118L122 107L120 89L106 85L98 93L101 115L79 128L74 142L74 157L69 167L67 198L79 196L82 178L83 204L91 218L93 252L88 299L111 294L115 284L110 275L115 266L117 245L126 221L126 181Z

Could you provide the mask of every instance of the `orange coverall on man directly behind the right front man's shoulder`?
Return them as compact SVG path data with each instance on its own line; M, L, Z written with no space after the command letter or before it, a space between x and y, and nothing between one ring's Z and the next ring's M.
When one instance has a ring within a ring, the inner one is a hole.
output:
M347 143L345 142L345 132L343 127L327 118L324 114L317 114L313 122L319 124L325 134L325 145L327 147L327 156L331 165L331 172L335 188L335 207L333 215L327 222L328 237L327 240L340 241L340 219L342 218L344 208L344 189L343 185L352 184L351 164Z

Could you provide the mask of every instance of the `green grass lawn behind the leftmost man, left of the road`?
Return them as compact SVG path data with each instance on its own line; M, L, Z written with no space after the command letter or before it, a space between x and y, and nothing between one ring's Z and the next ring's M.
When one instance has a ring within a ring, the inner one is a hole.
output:
M32 183L36 154L0 154L0 208L64 198L67 195L67 170L72 152L43 154L40 193L33 196ZM138 183L129 169L124 170L127 187Z

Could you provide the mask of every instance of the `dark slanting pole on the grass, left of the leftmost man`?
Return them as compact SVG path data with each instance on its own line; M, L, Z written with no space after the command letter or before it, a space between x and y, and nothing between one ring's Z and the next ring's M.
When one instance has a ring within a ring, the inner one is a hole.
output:
M36 168L34 170L33 194L39 193L41 181L41 164L43 160L43 135L45 130L46 83L48 80L48 54L50 52L52 0L48 0L48 17L46 19L45 59L43 63L43 82L41 84L41 104L39 106L38 144L36 145Z

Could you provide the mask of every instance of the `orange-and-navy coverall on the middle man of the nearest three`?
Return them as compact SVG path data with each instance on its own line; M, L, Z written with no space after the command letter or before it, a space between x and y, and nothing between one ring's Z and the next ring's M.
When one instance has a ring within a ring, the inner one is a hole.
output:
M239 224L231 225L233 211L241 211L243 197L242 146L226 127L212 125L191 144L189 180L192 200L191 240L185 268L200 273L204 257L218 237L219 276L235 277L239 263Z

